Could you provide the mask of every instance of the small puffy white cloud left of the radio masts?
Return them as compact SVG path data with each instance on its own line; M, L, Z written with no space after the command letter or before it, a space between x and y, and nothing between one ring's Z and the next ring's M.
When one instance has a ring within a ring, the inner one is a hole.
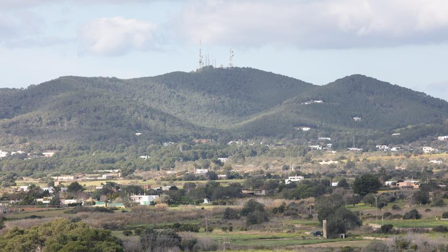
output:
M122 55L131 50L154 47L157 26L148 21L104 17L83 25L78 31L82 52L96 55Z

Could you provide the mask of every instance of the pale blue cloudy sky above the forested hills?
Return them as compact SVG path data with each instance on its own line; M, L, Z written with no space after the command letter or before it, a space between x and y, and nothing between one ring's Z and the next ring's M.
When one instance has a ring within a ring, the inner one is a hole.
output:
M0 88L198 68L202 51L325 85L364 74L448 100L446 0L0 0Z

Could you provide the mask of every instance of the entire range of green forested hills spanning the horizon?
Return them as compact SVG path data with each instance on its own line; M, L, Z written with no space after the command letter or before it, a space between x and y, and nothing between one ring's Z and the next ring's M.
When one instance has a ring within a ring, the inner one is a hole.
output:
M316 100L322 103L305 104ZM0 147L303 138L295 128L390 131L446 118L446 101L362 75L315 86L252 68L207 67L134 79L66 76L0 89Z

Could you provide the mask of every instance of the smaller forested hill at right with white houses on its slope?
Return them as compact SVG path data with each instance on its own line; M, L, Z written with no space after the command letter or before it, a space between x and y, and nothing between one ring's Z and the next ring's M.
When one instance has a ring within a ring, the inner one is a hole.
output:
M322 103L304 104L321 100ZM359 117L360 121L355 121ZM291 134L300 126L366 132L391 131L415 124L442 123L448 102L363 75L351 75L288 99L281 106L236 126L248 135Z

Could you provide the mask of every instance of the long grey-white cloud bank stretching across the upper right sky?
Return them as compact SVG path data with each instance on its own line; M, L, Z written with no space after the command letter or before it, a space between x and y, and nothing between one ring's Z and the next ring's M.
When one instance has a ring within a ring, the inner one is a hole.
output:
M181 39L214 45L384 47L448 41L445 0L206 0L171 23Z

